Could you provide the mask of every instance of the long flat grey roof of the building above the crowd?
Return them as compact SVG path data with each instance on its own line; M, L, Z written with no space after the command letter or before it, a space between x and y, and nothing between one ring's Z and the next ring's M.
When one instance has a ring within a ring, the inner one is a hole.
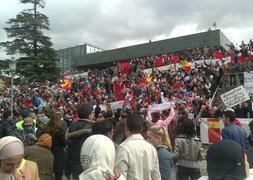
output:
M154 41L134 46L122 47L82 56L72 59L75 67L94 66L96 64L112 63L163 53L174 53L203 47L223 47L231 41L220 31L208 31L187 36Z

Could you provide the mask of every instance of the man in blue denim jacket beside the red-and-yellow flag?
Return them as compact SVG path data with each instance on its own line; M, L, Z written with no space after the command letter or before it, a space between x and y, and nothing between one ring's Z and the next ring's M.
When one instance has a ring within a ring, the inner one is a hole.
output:
M247 134L245 130L235 124L235 113L232 110L225 110L223 113L225 128L222 129L222 139L229 139L239 143L244 150L248 149Z

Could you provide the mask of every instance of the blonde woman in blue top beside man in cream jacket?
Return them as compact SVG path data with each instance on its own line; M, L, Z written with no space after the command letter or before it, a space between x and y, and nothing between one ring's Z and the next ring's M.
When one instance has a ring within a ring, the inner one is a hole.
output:
M147 131L147 140L156 148L161 180L170 180L173 169L172 146L165 127L152 126Z

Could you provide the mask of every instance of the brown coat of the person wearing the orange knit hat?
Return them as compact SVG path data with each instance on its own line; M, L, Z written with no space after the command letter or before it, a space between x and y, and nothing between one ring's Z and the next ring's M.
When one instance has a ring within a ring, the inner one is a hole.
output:
M54 156L49 149L37 145L26 146L24 158L37 163L40 179L52 180Z

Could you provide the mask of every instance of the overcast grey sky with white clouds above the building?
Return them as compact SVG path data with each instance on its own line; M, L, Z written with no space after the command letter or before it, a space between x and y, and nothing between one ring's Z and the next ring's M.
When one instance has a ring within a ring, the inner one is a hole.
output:
M253 0L46 0L55 49L88 42L104 49L217 28L235 43L253 38ZM0 41L6 21L29 6L0 0ZM0 59L6 58L0 49Z

